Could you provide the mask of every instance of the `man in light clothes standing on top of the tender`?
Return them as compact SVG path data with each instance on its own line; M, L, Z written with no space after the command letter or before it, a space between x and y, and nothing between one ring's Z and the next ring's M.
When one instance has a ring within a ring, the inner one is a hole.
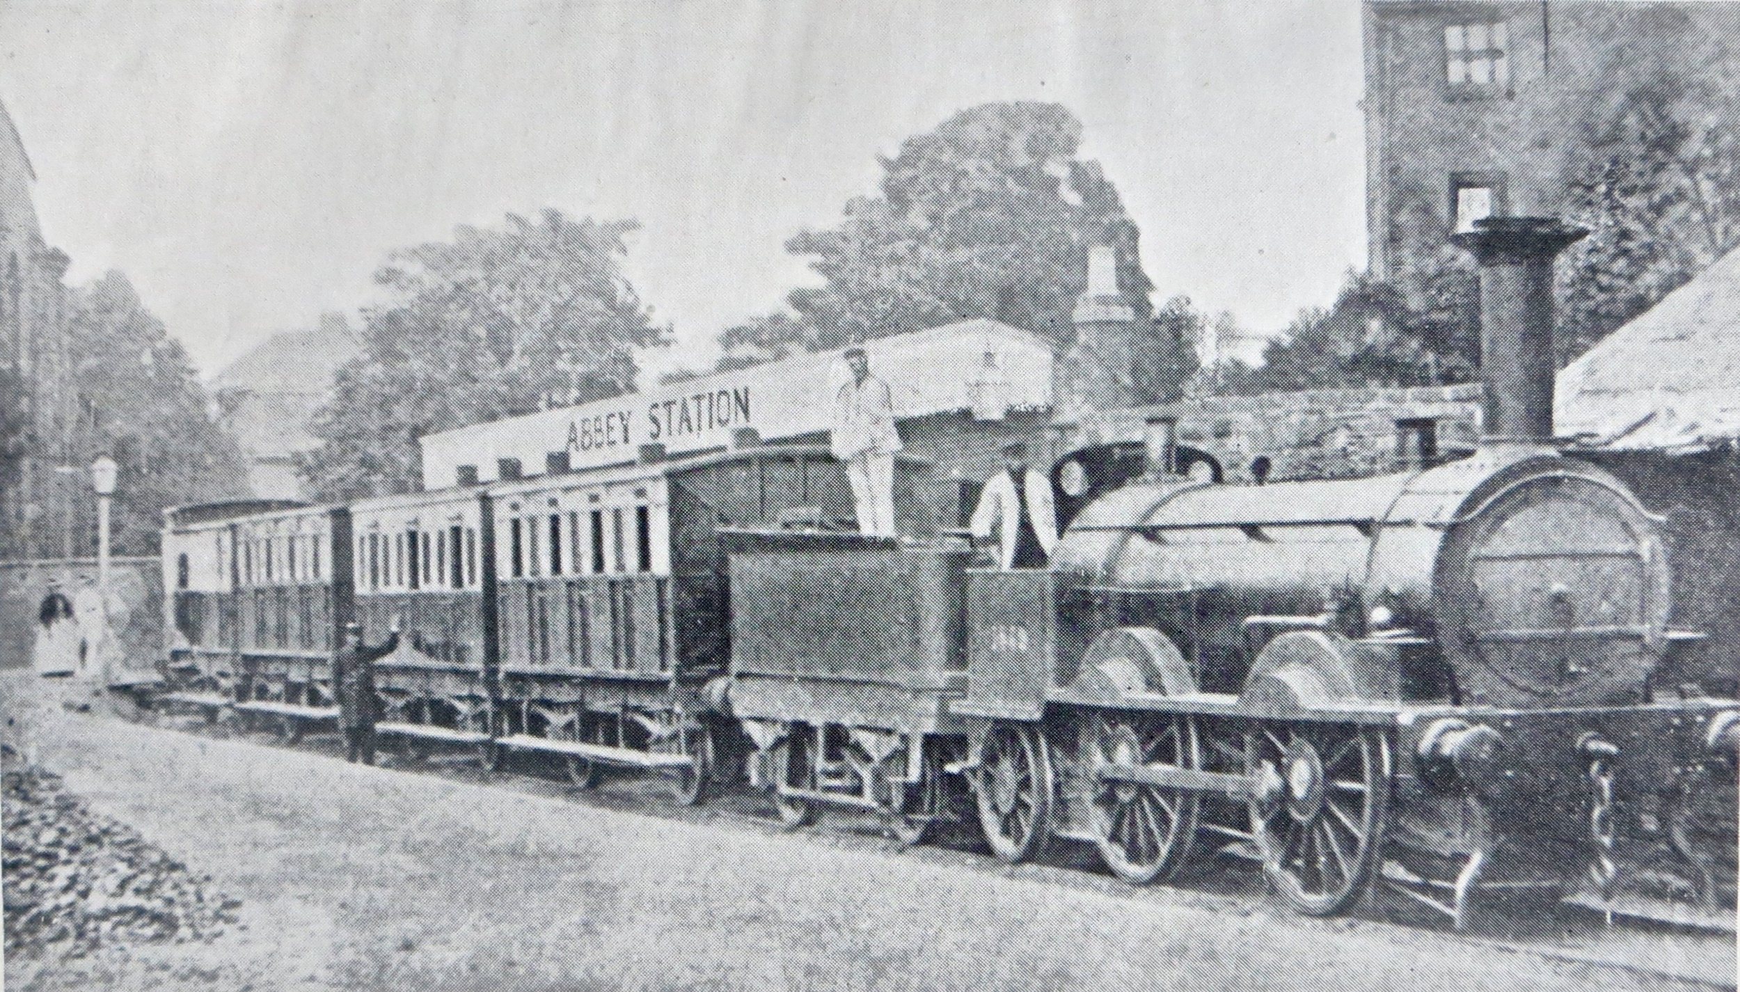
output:
M833 458L846 463L853 484L858 531L894 536L894 452L901 449L894 426L894 395L870 374L870 357L860 346L844 353L853 378L833 397Z

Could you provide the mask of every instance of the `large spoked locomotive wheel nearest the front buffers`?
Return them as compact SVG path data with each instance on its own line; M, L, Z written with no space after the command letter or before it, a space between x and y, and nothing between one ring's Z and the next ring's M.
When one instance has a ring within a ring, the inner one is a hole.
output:
M1293 908L1331 915L1366 891L1383 839L1390 741L1347 726L1262 724L1246 736L1263 877Z

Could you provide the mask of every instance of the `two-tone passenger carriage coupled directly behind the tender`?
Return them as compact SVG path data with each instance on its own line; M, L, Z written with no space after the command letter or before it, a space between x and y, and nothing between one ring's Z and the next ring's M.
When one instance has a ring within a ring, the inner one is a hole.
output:
M649 458L647 458L649 456ZM927 510L901 458L896 506ZM489 487L501 745L559 755L579 785L600 766L659 771L696 802L738 750L722 708L736 602L720 531L842 527L844 466L825 447L755 446L553 472Z

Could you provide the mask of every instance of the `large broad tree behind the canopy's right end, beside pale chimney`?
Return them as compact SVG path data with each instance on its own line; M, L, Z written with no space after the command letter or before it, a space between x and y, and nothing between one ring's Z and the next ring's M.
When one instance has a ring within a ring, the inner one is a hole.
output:
M880 160L880 195L786 242L825 278L790 294L802 331L764 318L741 343L835 348L974 317L1063 343L1093 245L1117 249L1119 287L1147 320L1136 225L1100 164L1077 157L1081 137L1053 103L988 103L908 137Z

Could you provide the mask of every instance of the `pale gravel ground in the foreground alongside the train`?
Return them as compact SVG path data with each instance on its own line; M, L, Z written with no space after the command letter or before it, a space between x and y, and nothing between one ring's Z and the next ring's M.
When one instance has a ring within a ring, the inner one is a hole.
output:
M212 943L111 948L16 989L1662 989L1733 954L1662 935L1608 968L1260 900L1053 884L950 851L693 823L308 750L44 717L97 813L242 900ZM1061 872L1077 874L1079 872Z

